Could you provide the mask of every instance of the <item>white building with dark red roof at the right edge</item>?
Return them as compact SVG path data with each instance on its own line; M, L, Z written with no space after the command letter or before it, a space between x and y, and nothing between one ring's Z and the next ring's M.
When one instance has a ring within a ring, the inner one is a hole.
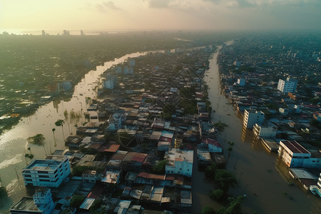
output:
M296 141L280 141L279 156L288 167L321 168L321 156L312 156Z

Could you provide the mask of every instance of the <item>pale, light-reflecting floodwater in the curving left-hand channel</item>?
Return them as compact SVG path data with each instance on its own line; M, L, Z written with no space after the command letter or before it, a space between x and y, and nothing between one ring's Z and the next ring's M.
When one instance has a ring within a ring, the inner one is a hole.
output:
M101 74L111 66L123 63L128 57L143 56L149 52L127 54L121 58L115 58L114 61L106 62L104 66L97 66L96 71L89 71L75 86L72 98L65 101L51 101L41 106L34 115L21 118L18 125L0 136L0 178L10 196L9 203L0 208L0 213L9 212L11 205L26 195L21 171L31 160L25 158L25 154L32 153L34 158L44 158L46 154L56 149L66 149L63 139L76 134L75 125L82 126L86 122L83 117L89 105L86 103L86 97L96 98L95 87L98 86ZM68 118L65 117L65 111L68 113ZM77 114L78 116L75 117L74 115ZM55 126L58 119L64 120L63 127ZM53 128L56 128L54 133ZM26 141L26 138L38 133L46 138L44 146L32 145Z

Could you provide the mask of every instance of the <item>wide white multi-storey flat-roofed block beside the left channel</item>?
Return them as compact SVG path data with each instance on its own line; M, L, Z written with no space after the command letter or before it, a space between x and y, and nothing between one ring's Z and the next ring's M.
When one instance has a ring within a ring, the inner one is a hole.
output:
M67 157L34 160L22 171L25 185L57 188L71 172Z

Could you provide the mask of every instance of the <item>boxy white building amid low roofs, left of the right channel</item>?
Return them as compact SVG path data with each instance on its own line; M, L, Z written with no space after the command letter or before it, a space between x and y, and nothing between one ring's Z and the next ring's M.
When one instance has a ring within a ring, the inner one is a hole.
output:
M168 160L165 165L166 174L179 174L188 177L192 176L193 171L193 151L180 151L172 148L165 153L164 159Z

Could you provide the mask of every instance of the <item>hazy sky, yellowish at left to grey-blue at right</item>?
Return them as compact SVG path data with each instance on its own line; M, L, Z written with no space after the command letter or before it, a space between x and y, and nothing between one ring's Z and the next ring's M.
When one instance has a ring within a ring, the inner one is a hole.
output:
M321 29L321 0L0 0L0 29Z

